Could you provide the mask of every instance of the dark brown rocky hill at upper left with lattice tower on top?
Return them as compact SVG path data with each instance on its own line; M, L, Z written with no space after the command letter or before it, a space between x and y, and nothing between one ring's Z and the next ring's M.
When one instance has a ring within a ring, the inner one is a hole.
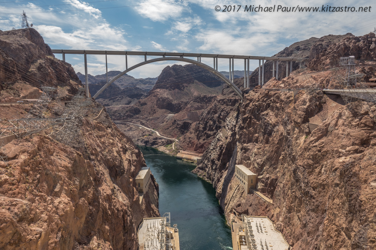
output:
M80 81L70 64L60 61L33 28L0 31L1 102L38 99L41 86L58 87L62 100Z

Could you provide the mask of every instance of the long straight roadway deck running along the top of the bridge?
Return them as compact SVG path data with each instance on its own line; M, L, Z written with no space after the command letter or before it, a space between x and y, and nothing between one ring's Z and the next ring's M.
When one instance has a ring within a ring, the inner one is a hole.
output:
M80 49L52 49L53 54L87 54L87 55L150 55L160 57L206 57L206 58L234 58L252 60L279 60L296 61L296 57L263 57L255 55L224 55L224 54L200 54L200 53L178 53L178 52L148 52L148 51L105 51L105 50L80 50ZM308 61L308 58L299 58Z

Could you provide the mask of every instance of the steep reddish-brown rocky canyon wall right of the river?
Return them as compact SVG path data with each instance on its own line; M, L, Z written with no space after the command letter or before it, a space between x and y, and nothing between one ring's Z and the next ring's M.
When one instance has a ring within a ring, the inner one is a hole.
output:
M361 51L373 49L357 59L370 72L374 66L367 59L376 49L372 37L359 38L366 41L358 44L359 48L364 45ZM325 46L343 47L357 39L349 34L337 38ZM310 55L323 43L314 43L308 49ZM350 55L344 51L342 56ZM314 70L315 65L329 65L338 59L331 58L332 49L327 49L309 61L318 84L332 84ZM293 74L282 81L271 79L265 87L299 86L302 82ZM301 90L293 97L291 92L256 87L245 92L243 103L235 106L227 106L226 117L212 117L209 124L217 124L218 133L207 136L196 129L196 134L186 133L181 140L191 139L192 145L198 145L199 138L208 138L203 161L194 172L213 184L227 219L233 210L268 216L293 249L375 249L374 104L357 101L344 105L340 97L321 91ZM224 107L208 108L211 110L205 114L220 114ZM195 126L205 124L200 120ZM258 191L273 204L243 190L234 176L236 164L258 175Z

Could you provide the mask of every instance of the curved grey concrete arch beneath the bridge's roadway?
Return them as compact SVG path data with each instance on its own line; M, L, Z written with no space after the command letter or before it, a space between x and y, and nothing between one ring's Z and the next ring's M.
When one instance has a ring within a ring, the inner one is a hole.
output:
M129 71L131 71L133 69L136 69L136 68L138 68L140 66L143 66L145 64L155 63L157 61L183 61L183 62L186 62L186 63L192 63L192 64L195 64L197 66L200 66L203 69L206 69L209 72L213 73L214 75L218 76L222 81L226 82L226 84L229 85L232 88L233 91L235 91L235 93L240 97L240 99L243 100L243 95L242 95L240 89L235 84L233 84L228 78L226 78L226 76L222 75L222 73L220 73L219 71L217 71L217 70L213 69L212 67L206 65L205 63L201 63L199 61L195 61L195 60L188 59L188 58L183 58L183 57L161 57L161 58L155 58L155 59L150 59L150 60L147 60L147 61L143 61L142 63L138 63L138 64L136 64L136 65L128 68L127 70L124 70L119 75L115 76L114 78L112 78L111 81L109 81L108 83L106 83L106 85L104 85L93 96L93 98L96 99L100 95L100 93L102 93L103 90L105 90L105 88L107 88L112 82L116 81L120 76L124 75L125 73L128 73Z

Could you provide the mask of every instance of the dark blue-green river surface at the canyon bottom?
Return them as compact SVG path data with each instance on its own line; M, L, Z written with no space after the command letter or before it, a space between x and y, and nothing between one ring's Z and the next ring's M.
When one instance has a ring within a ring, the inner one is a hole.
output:
M170 212L171 226L177 224L180 249L232 249L231 229L212 184L191 173L196 165L154 148L140 149L159 184L159 212Z

